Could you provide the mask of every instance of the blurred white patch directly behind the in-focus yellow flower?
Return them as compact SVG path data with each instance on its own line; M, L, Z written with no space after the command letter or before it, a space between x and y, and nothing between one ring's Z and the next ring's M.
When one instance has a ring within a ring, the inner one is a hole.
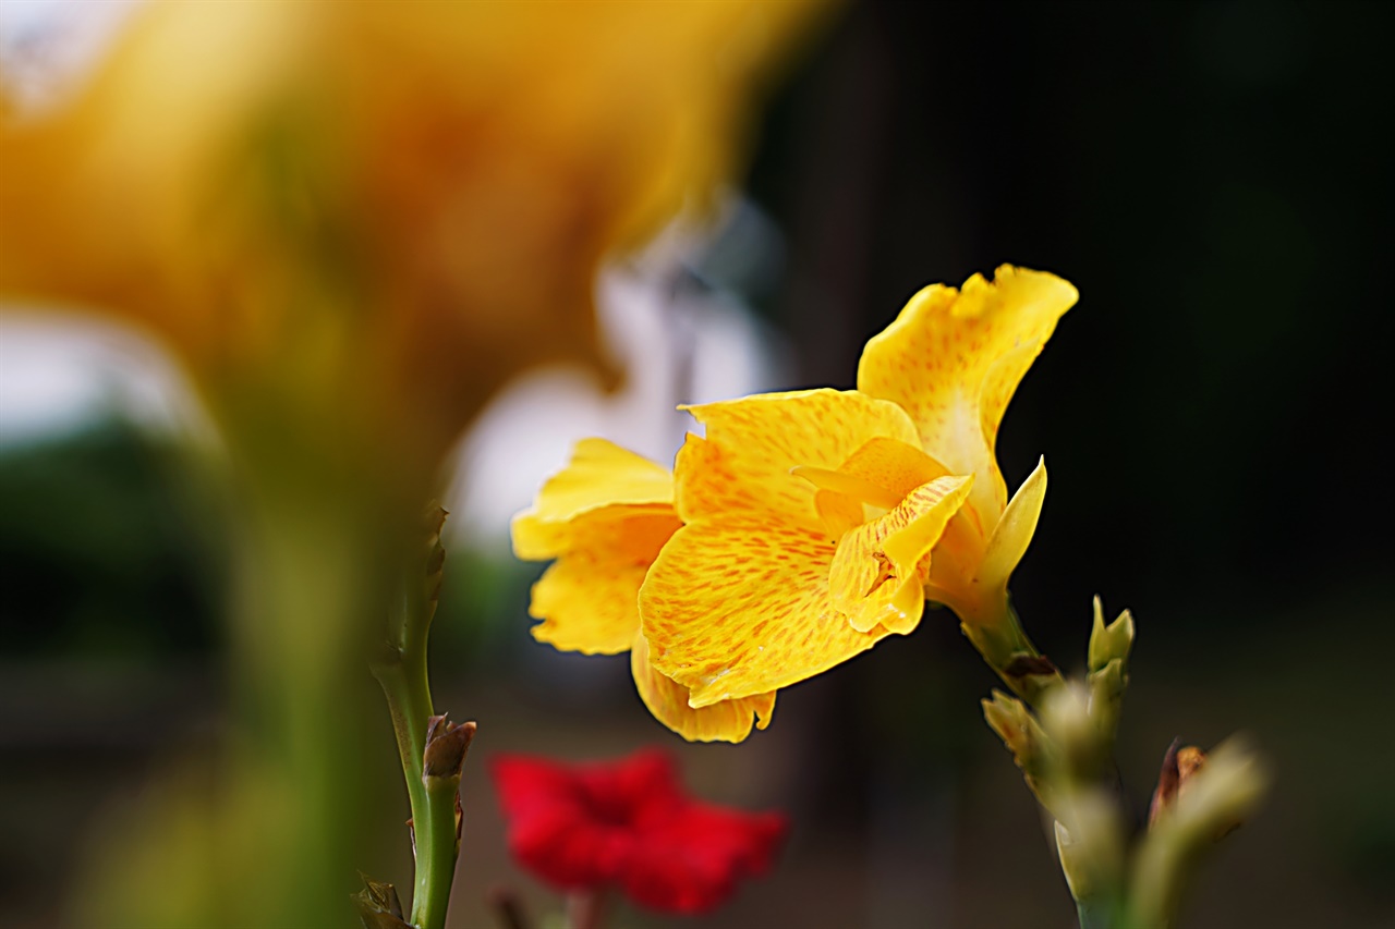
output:
M725 220L721 237L739 232L744 262L778 261L773 227L752 206L732 198ZM738 296L689 268L713 244L675 223L638 259L601 273L597 321L624 371L621 388L607 395L586 371L547 368L495 398L462 442L446 502L458 536L506 545L513 513L566 464L578 439L605 438L671 467L685 432L699 431L679 403L759 393L787 379L776 333Z

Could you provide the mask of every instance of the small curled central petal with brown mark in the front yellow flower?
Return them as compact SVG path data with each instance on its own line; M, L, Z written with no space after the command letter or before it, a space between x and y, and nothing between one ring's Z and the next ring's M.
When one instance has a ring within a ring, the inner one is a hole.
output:
M964 505L972 477L937 477L911 491L900 506L865 523L838 543L829 572L833 604L858 632L877 625L911 632L921 621L925 594L921 559Z

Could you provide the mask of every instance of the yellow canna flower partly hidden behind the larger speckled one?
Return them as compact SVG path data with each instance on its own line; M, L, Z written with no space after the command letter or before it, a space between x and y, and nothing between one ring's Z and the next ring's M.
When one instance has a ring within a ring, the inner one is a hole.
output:
M631 651L635 686L660 723L689 741L739 742L752 717L766 728L776 695L692 709L688 688L654 670L640 635L639 587L679 526L667 469L604 439L579 442L513 519L519 558L557 559L533 586L529 612L543 619L533 637L562 651Z

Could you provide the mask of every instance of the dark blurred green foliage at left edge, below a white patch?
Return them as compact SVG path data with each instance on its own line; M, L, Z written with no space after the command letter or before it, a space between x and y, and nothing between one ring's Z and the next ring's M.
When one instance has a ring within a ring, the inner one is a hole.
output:
M6 654L205 651L225 534L170 438L121 420L0 451Z

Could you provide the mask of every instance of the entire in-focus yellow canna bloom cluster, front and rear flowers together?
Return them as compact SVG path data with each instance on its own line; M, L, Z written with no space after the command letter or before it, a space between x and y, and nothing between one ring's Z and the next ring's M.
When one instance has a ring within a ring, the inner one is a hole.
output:
M689 407L706 437L674 476L582 442L513 523L520 558L558 559L533 589L534 636L631 650L654 716L704 741L764 728L778 688L911 632L926 600L1010 649L1007 580L1046 471L1009 501L995 439L1074 301L1010 266L926 287L868 343L857 391Z

